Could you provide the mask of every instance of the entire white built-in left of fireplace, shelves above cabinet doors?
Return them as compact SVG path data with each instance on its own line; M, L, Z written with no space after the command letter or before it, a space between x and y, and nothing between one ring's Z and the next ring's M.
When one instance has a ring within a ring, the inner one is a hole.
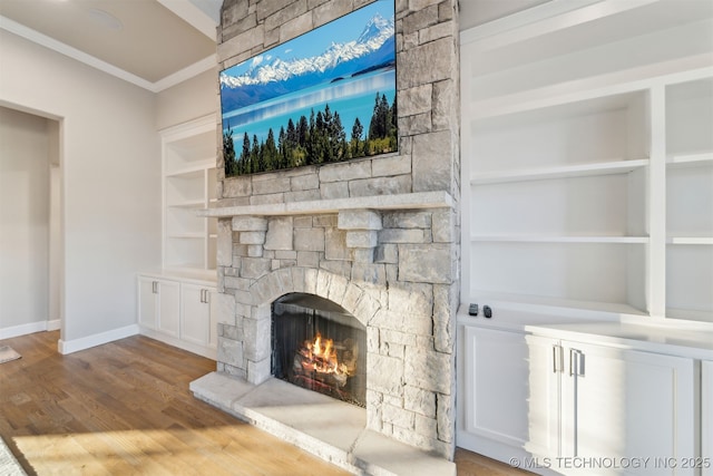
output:
M160 132L163 269L138 275L141 333L215 359L217 344L217 123L214 115ZM158 184L157 184L158 186Z

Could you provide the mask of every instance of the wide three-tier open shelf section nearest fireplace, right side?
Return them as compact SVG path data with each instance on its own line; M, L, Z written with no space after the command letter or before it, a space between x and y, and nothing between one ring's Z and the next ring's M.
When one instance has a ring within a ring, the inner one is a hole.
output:
M648 100L642 89L471 123L472 300L646 312Z

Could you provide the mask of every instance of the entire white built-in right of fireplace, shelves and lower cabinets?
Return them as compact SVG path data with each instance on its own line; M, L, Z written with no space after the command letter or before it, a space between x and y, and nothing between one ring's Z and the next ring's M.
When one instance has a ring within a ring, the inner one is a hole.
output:
M458 446L711 457L711 38L705 0L545 2L461 33ZM641 332L533 336L592 322ZM712 474L683 469L646 474Z

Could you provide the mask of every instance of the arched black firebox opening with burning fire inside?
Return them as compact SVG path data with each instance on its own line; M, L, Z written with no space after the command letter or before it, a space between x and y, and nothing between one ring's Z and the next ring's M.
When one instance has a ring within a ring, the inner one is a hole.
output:
M332 301L286 294L272 304L272 373L367 407L367 329Z

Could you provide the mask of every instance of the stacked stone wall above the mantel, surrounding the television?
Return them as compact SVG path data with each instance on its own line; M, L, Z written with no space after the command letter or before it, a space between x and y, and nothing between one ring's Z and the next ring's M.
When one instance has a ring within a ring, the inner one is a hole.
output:
M221 206L431 191L457 196L457 0L394 2L399 152L227 179L221 155ZM221 68L245 61L368 3L371 1L225 0L218 29Z

